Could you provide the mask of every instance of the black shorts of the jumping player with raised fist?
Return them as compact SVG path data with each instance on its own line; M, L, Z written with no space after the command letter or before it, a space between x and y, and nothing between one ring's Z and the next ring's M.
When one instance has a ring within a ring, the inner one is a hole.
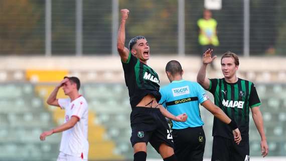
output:
M169 125L159 108L134 107L130 121L132 146L138 142L150 142L158 153L162 143L174 148Z

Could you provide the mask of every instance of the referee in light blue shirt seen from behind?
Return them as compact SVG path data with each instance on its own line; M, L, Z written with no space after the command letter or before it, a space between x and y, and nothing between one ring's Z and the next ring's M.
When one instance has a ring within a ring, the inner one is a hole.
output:
M159 103L173 115L186 113L189 117L186 122L172 121L172 135L175 145L175 154L178 160L202 161L205 151L204 122L200 114L201 104L219 120L228 124L233 130L234 141L241 140L240 131L235 121L210 100L205 90L197 83L183 79L183 69L180 62L171 60L166 65L166 74L170 84L160 89L162 98Z

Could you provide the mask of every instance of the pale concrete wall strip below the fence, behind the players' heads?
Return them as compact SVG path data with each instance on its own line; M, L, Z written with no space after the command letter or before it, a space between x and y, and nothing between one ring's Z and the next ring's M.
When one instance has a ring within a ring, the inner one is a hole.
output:
M201 65L200 57L193 56L151 56L148 64L155 69L165 69L169 60L178 60L185 69L197 70ZM240 57L241 70L286 70L286 57ZM220 57L215 65L220 67ZM21 57L3 56L0 58L1 69L104 69L121 70L119 56L52 56L52 57Z

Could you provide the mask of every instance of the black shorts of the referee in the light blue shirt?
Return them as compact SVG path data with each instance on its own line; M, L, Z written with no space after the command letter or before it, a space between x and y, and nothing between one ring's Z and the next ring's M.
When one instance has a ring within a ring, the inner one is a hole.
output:
M202 126L173 129L172 135L178 161L203 160L206 137Z

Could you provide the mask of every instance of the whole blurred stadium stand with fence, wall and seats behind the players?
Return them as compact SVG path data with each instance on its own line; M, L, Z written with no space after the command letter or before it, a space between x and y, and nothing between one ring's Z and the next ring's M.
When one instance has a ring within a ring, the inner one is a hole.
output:
M137 34L148 39L152 57L148 65L164 85L169 83L165 73L169 60L180 61L184 78L196 81L202 54L197 20L207 2L221 3L217 4L221 9L210 9L220 41L214 55L237 53L237 75L256 85L270 150L266 159L286 160L285 0L0 1L0 160L56 160L61 134L45 142L39 135L63 122L63 111L45 102L65 75L80 78L80 93L89 103L89 160L132 160L131 109L116 52L120 17L116 13L130 10L126 42ZM214 65L216 70L208 69L207 76L222 77L220 57ZM204 160L209 160L213 117L204 108L201 116ZM249 135L251 160L252 156L264 160L251 118ZM150 158L161 157L149 145Z

